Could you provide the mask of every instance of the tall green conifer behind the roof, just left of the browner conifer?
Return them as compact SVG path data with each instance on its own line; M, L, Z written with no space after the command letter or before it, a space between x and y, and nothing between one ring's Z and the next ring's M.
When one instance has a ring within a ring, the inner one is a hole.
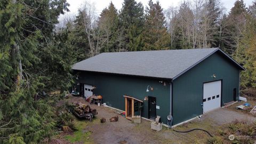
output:
M142 4L134 0L124 0L119 17L124 29L124 49L129 51L142 50L142 31L145 21Z

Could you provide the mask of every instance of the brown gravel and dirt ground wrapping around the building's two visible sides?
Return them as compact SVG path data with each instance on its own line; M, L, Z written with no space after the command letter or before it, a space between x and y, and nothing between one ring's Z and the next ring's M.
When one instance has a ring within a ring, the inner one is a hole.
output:
M65 101L78 101L90 105L81 97L70 96L69 99L63 100L62 104ZM93 143L205 143L206 139L209 138L209 135L201 131L177 133L172 129L168 130L163 127L162 131L156 132L150 129L151 122L145 119L142 119L141 124L135 124L118 115L115 109L97 105L90 105L90 107L97 109L98 115L93 119L93 122L85 121L88 124L83 127L83 130L91 132L90 139L93 140ZM109 122L109 119L116 115L119 117L118 122ZM100 123L101 117L106 118L106 123ZM256 121L253 116L227 108L219 108L204 114L201 119L195 119L174 129L186 131L200 128L214 135L221 124L232 122L235 119L238 121ZM86 141L76 143L86 143Z

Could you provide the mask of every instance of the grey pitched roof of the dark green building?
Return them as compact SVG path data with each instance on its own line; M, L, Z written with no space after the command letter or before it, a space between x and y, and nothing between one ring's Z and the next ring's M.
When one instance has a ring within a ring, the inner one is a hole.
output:
M218 50L220 49L101 53L75 63L73 69L100 73L175 79ZM220 52L222 51L220 50ZM228 55L226 56L228 57ZM238 63L236 64L239 65Z

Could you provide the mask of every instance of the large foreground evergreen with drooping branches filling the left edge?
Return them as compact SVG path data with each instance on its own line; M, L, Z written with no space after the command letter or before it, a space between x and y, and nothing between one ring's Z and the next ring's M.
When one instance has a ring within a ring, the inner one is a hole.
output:
M54 133L51 102L36 95L55 81L44 71L56 62L42 67L43 57L52 53L53 28L67 6L65 0L0 2L0 143L38 143Z

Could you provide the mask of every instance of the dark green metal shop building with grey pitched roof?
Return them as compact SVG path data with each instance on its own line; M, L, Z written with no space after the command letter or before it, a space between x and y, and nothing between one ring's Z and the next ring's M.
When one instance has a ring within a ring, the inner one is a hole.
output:
M101 53L73 66L84 97L172 125L236 101L245 70L218 48Z

